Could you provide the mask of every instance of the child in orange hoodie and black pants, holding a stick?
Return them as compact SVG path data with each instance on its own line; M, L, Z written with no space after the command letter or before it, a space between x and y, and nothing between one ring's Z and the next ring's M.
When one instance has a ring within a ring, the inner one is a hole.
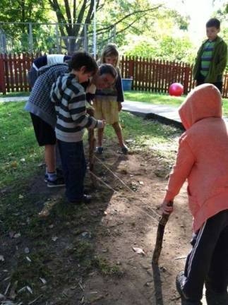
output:
M188 206L193 215L193 249L185 270L176 277L183 305L200 305L203 285L208 305L228 304L228 132L222 119L220 91L211 84L192 90L179 108L186 131L162 203L188 181Z

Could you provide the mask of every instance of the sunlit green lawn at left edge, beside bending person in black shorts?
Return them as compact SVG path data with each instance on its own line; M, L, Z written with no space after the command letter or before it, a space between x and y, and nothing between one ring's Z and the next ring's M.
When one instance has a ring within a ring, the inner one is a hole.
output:
M25 102L0 103L0 189L29 177L42 161Z

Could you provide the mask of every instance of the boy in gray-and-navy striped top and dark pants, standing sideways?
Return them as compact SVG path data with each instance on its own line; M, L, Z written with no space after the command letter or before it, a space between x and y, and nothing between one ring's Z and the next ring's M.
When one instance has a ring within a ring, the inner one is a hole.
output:
M84 128L104 128L104 121L86 114L85 90L81 83L97 72L97 64L87 52L76 52L69 62L71 73L59 76L52 85L51 99L56 109L56 138L66 183L66 197L71 203L88 203L84 194L85 155ZM114 78L111 79L114 83Z

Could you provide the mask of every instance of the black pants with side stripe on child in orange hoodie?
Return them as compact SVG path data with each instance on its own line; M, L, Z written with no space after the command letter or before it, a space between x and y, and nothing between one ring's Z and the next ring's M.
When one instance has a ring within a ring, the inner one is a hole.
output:
M184 294L200 301L203 285L214 292L227 292L228 287L228 210L209 218L193 235L193 249L185 266Z

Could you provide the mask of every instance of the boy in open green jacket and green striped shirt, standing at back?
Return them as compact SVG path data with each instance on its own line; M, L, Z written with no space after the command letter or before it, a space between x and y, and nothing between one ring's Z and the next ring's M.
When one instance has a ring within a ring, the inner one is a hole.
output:
M227 65L227 44L217 34L220 32L220 20L211 18L206 23L208 40L198 50L193 78L196 85L212 83L222 93L222 74Z

